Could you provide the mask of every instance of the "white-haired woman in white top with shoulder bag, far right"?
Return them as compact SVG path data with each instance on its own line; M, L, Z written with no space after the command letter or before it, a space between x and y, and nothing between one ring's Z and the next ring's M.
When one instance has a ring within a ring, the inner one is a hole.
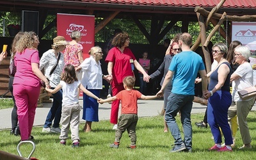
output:
M251 53L250 50L244 46L237 47L234 52L236 63L239 63L239 67L237 67L236 71L231 75L230 81L234 81L235 84L235 87L233 88L234 101L236 102L237 106L239 131L244 143L244 145L239 149L252 148L252 139L247 125L247 116L249 111L252 109L255 98L242 100L238 94L240 90L253 86L253 69L248 62Z

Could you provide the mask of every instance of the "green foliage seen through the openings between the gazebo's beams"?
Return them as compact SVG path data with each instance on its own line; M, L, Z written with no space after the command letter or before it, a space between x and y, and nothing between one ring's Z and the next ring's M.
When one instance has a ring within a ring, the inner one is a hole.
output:
M16 12L0 12L0 22L3 22L5 20L5 35L9 36L7 26L8 24L21 24L21 13ZM47 19L45 20L44 28L47 27L54 19L56 19L56 15L47 15ZM100 23L100 21L103 20L102 17L95 17L95 26ZM147 32L150 34L150 26L151 21L150 20L140 20L141 24L145 27ZM164 22L163 29L167 26L167 24L170 21L166 20ZM173 36L175 36L177 33L181 32L181 26L182 22L179 21L175 26L173 26L172 29L164 36L163 40L166 38L172 39ZM223 25L222 25L223 27ZM43 28L43 29L44 29ZM114 33L114 30L116 28L120 28L123 31L127 32L131 36L131 44L149 44L147 38L143 33L141 33L138 26L134 23L134 20L127 17L127 19L113 19L111 20L103 29L101 29L97 34L95 34L95 42L106 42ZM207 30L207 35L211 32L213 29L212 24L209 25L209 28ZM196 38L198 37L200 28L198 25L198 22L189 22L188 32L193 37L193 42L195 42ZM0 28L0 35L3 35L3 27ZM56 27L53 27L48 31L43 37L43 40L52 40L57 35ZM159 42L159 44L163 44L163 40ZM211 39L212 43L215 44L216 42L225 42L225 39L220 36L220 34L217 32L212 36Z

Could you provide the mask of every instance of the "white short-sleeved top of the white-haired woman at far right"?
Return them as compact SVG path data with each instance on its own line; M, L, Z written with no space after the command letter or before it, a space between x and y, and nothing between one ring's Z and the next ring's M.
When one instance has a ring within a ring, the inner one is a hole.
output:
M239 97L238 91L243 90L244 88L253 86L253 70L250 63L243 63L242 65L239 65L237 67L234 74L237 74L240 76L239 79L236 79L234 81L235 87L234 87L234 101L242 101L242 99ZM250 100L250 99L248 99Z

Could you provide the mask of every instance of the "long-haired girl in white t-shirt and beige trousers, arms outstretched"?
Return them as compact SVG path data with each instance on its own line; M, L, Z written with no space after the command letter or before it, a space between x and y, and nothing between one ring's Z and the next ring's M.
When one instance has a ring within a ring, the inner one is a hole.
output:
M62 126L60 134L61 145L66 145L68 138L68 130L70 125L72 147L79 147L79 115L80 107L77 97L78 88L82 90L86 95L93 99L100 100L97 96L93 95L92 92L86 90L84 86L77 80L76 70L73 65L66 65L64 72L61 75L61 81L54 90L46 89L47 92L56 93L62 88L63 99L62 99Z

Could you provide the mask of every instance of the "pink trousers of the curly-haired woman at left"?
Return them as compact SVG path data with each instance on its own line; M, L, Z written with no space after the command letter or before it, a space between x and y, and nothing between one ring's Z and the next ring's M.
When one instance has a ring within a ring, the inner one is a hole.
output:
M17 106L21 140L28 140L31 136L36 113L40 86L25 86L13 84L13 95Z

